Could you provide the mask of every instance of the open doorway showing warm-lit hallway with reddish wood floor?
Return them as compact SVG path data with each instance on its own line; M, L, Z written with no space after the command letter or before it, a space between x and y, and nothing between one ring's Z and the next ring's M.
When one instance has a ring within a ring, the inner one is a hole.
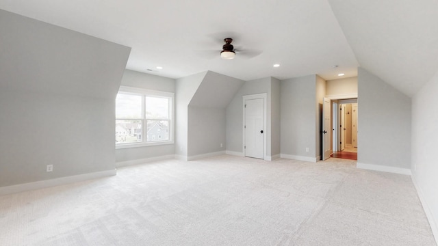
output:
M331 157L357 160L357 98L333 100L333 154Z

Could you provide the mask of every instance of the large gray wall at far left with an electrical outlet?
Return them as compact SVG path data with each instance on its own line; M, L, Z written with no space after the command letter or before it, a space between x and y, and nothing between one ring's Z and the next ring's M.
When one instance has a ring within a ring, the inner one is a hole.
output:
M0 187L114 169L130 49L3 10L0 33Z

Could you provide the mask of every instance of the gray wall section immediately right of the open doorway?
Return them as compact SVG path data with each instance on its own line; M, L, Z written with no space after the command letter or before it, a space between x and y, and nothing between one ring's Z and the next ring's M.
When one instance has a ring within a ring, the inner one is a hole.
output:
M411 98L363 68L358 76L358 163L411 168Z

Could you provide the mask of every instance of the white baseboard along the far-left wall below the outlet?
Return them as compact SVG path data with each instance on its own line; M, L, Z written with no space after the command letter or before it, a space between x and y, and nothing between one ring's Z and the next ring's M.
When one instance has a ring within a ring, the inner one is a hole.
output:
M93 172L90 174L79 174L74 176L53 178L50 180L41 180L36 182L29 182L25 184L16 184L8 187L0 187L0 195L8 195L12 193L18 193L23 191L32 191L36 189L42 189L47 187L54 187L62 184L71 184L74 182L81 182L86 180L93 180L96 178L104 178L107 176L114 176L117 174L117 169L111 169L102 172Z

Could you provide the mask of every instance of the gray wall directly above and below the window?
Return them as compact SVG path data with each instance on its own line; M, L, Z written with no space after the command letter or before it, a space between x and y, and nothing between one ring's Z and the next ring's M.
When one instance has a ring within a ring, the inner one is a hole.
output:
M122 78L122 85L138 87L147 90L175 93L175 79L159 77L153 74L145 74L143 72L136 72L132 70L125 70ZM173 120L175 121L175 102ZM173 132L175 133L175 127L173 129ZM121 148L116 150L116 162L118 163L138 159L148 159L171 154L175 154L175 144L136 148Z

